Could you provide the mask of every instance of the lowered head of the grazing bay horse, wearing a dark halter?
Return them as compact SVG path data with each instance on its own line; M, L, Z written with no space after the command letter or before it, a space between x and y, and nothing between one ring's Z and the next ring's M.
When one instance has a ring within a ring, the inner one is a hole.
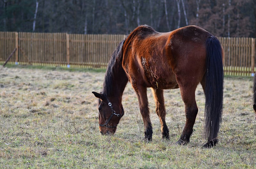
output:
M121 117L124 115L122 104L115 98L108 98L102 93L92 93L96 98L99 98L97 106L99 110L100 133L102 135L114 134Z

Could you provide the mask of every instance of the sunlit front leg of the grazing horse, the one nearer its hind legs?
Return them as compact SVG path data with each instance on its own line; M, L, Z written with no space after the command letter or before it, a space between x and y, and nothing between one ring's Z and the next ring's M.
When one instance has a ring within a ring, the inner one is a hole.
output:
M160 119L162 137L169 140L169 129L165 122L166 111L164 106L163 90L153 89L153 88L151 88L151 90L153 92L155 103L156 103L156 114Z

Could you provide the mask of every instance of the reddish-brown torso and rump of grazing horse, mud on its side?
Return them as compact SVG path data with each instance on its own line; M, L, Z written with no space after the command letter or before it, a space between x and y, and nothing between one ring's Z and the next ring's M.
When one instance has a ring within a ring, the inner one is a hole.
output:
M205 40L208 36L211 34L198 26L168 33L139 26L124 42L122 66L131 83L147 87L178 88L176 78L180 74L192 78L199 73L196 76L199 83L206 69Z

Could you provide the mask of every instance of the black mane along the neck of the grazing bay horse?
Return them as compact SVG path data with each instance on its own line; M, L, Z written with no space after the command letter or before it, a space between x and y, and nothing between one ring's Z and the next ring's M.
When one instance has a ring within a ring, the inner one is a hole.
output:
M108 62L108 67L105 73L103 89L102 89L102 94L104 94L105 96L109 96L113 94L113 80L114 80L113 75L118 73L118 71L120 71L121 69L123 69L122 47L124 45L124 41L126 40L126 38L119 43L119 45L116 47L116 49L112 53L111 58Z

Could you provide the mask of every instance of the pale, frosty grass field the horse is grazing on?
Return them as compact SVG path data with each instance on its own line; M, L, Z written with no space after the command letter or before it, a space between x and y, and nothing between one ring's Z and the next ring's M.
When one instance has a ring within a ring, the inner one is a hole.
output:
M224 78L219 144L204 149L204 93L190 143L176 145L185 124L179 89L165 90L170 140L163 140L151 90L153 140L145 142L131 84L114 136L101 136L97 99L103 71L0 66L0 168L256 168L252 77Z

